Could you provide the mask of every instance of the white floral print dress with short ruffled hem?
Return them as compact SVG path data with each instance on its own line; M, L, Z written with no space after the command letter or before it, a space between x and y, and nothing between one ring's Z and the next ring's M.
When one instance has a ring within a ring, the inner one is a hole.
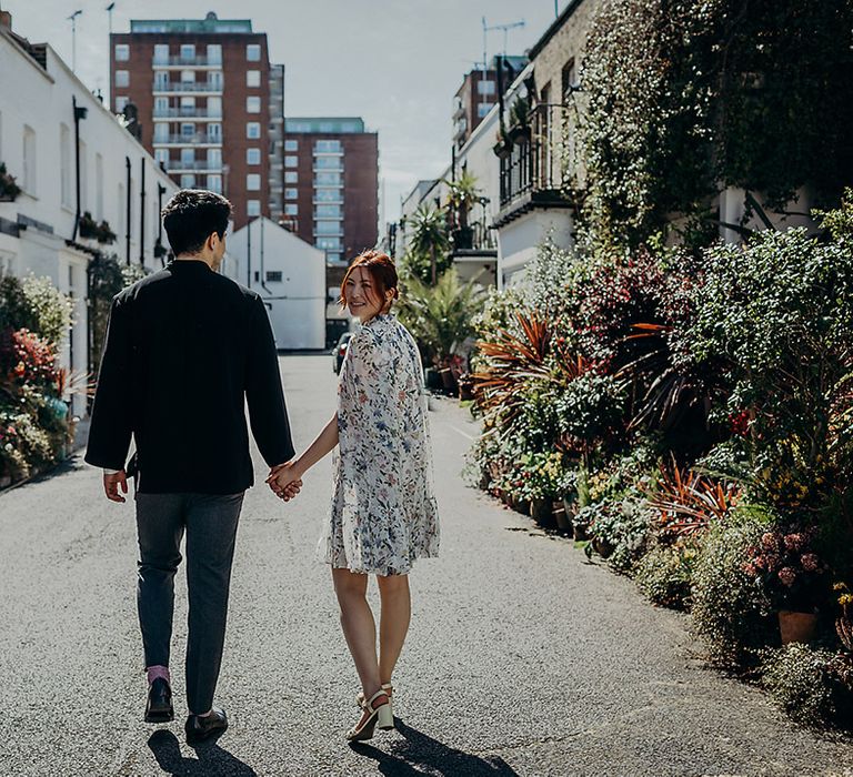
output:
M404 575L439 553L439 514L418 346L391 314L353 334L338 384L330 521L319 552L360 574Z

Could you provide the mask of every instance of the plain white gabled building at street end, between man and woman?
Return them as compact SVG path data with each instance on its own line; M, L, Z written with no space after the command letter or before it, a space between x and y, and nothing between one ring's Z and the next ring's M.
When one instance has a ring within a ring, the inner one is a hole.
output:
M275 347L325 347L325 251L265 216L225 239L229 276L261 295Z

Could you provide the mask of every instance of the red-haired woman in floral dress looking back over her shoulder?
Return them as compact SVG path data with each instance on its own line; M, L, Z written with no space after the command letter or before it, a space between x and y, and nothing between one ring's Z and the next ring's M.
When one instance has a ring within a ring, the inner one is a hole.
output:
M319 552L332 566L341 625L361 679L362 715L347 733L370 739L393 728L391 677L411 614L409 572L436 556L439 523L418 346L391 314L397 270L383 253L358 256L341 284L340 304L361 326L350 340L338 385L338 412L320 435L269 483L279 495L332 448L334 495ZM375 575L381 599L377 628L367 599Z

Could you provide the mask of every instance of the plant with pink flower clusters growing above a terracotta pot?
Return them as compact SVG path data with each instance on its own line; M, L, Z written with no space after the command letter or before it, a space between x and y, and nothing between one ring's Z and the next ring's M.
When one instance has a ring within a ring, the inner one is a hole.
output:
M811 528L776 527L747 548L743 571L779 609L814 612L827 572Z

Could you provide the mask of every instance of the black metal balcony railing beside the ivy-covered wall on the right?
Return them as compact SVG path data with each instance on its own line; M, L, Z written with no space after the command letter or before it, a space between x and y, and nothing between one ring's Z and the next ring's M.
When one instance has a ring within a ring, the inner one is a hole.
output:
M536 192L559 194L563 184L560 159L562 131L566 121L564 105L538 105L530 112L529 127L509 128L516 139L508 157L501 159L501 208Z

